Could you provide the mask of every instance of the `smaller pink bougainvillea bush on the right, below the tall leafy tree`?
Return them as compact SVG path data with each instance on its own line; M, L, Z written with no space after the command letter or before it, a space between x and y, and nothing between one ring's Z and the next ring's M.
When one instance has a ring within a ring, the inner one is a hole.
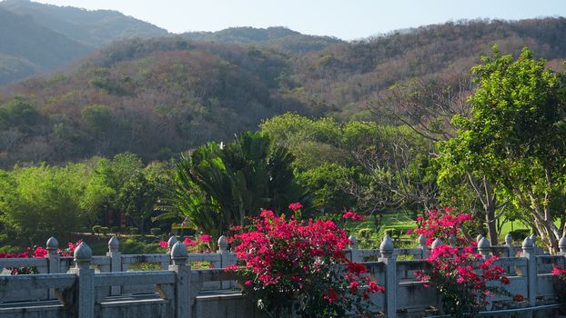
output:
M427 243L435 238L456 238L455 246L440 245L426 259L429 266L417 273L426 286L433 286L442 297L443 310L452 317L473 316L487 304L493 294L507 294L497 283L508 284L503 268L494 264L498 257L483 259L475 253L477 243L462 234L462 224L472 222L470 214L456 214L454 209L431 210L426 218L418 220L417 234L424 234ZM444 241L447 242L447 241Z

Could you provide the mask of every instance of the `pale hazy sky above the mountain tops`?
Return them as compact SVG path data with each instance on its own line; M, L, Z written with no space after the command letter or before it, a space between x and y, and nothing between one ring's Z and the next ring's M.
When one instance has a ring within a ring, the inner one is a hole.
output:
M472 18L566 16L566 0L39 0L113 9L170 32L282 25L352 40L391 30Z

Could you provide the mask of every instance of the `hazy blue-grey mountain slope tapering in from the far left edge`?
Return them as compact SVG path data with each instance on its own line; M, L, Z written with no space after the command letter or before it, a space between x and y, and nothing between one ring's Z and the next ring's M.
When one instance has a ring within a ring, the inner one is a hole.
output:
M0 8L0 84L52 70L93 48Z

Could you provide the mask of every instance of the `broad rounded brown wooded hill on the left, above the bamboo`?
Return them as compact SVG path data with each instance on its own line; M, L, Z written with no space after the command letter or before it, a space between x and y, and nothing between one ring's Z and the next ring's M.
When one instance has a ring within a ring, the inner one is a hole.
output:
M0 166L124 151L167 159L231 141L276 114L311 114L278 93L288 69L286 55L244 45L178 37L116 43L66 74L0 94Z

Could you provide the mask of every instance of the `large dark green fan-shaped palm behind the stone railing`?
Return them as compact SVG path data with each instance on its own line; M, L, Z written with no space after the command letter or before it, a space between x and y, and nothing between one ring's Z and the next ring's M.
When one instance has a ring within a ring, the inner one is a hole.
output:
M184 214L199 230L217 236L248 224L262 208L283 211L306 204L306 190L295 181L293 156L267 134L245 133L227 144L208 143L181 156L175 185L160 209L162 217Z

